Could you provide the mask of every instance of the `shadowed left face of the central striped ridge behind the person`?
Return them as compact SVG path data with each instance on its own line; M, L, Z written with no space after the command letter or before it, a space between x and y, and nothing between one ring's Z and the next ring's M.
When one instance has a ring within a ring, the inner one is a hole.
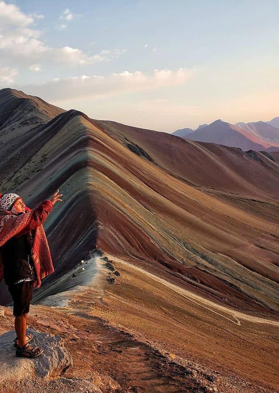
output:
M18 193L30 208L49 198L57 188L63 193L64 203L60 208L57 203L44 224L55 261L52 280L71 269L77 259L87 257L88 250L96 245L88 185L88 132L80 124L82 116L71 110L26 132L20 154L12 151L8 167L6 152L0 151L5 167L0 172L2 193Z

